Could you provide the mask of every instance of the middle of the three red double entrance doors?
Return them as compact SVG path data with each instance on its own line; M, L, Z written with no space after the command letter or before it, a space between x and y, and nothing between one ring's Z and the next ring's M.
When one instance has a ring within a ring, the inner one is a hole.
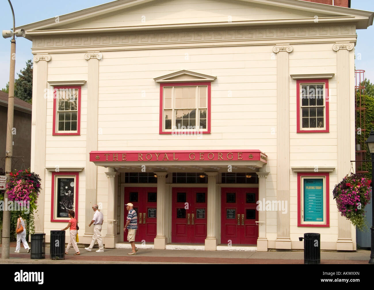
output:
M207 188L173 188L172 243L205 242L207 197Z

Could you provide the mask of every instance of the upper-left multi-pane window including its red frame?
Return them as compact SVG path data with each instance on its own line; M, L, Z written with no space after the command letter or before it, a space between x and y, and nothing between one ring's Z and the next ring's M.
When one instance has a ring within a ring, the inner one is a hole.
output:
M53 135L80 135L80 86L53 88Z

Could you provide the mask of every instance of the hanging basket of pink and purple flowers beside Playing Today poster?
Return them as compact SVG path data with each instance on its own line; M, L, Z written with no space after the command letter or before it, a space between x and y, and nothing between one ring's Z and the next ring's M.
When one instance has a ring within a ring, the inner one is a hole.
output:
M351 173L332 191L338 211L361 231L367 228L364 208L371 198L370 183L364 175Z

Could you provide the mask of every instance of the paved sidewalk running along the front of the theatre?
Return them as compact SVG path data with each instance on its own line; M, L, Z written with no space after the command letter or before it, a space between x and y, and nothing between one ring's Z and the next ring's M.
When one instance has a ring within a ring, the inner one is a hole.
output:
M255 252L255 251L203 251L203 250L154 250L139 248L137 255L129 256L130 249L104 249L104 253L87 252L80 248L80 256L74 256L74 250L65 255L65 260L50 260L49 247L46 247L46 259L30 259L25 249L21 253L14 253L10 248L10 259L1 259L4 263L208 263L208 264L303 264L304 252ZM94 249L96 250L96 249ZM367 264L370 251L358 250L356 252L321 252L321 264Z

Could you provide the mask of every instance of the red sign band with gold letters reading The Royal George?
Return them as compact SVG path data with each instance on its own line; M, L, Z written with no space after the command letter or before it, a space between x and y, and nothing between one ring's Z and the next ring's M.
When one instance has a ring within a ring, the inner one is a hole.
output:
M147 161L262 161L267 156L260 150L201 150L201 151L91 151L92 162Z

